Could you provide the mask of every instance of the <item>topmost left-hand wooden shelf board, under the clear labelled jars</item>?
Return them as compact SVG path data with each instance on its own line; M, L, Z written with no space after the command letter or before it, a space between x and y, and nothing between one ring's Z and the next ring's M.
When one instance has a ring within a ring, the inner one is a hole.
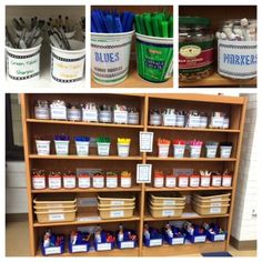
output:
M63 120L41 120L41 119L27 119L28 123L43 123L43 124L71 124L71 125L87 125L100 128L127 128L127 129L142 129L142 124L118 124L118 123L98 123L98 122L74 122Z

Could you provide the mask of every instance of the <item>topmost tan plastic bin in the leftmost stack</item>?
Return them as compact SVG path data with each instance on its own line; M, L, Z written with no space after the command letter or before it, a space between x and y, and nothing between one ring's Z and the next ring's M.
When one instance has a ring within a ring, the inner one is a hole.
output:
M36 208L67 208L77 204L77 198L74 195L38 195L33 203Z

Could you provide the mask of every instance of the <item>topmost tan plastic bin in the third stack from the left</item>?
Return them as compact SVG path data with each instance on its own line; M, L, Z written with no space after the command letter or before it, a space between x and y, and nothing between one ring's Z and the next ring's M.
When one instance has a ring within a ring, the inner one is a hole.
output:
M152 205L184 205L185 196L174 193L161 193L161 195L150 194Z

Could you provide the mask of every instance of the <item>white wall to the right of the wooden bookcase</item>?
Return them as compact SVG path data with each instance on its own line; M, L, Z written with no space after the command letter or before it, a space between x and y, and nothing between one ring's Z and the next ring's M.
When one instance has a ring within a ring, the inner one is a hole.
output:
M258 209L258 125L256 94L248 97L246 119L242 143L235 208L232 222L232 235L239 241L256 240Z

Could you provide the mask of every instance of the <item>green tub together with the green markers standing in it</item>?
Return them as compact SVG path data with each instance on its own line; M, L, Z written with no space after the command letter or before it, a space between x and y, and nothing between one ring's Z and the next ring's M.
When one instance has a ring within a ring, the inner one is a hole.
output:
M135 16L138 73L164 82L173 73L173 17L164 12Z

